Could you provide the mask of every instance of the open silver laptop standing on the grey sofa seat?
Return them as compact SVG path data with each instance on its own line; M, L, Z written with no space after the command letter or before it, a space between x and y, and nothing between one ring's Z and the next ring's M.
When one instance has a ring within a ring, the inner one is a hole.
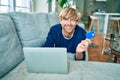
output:
M66 48L24 47L27 71L31 73L68 73Z

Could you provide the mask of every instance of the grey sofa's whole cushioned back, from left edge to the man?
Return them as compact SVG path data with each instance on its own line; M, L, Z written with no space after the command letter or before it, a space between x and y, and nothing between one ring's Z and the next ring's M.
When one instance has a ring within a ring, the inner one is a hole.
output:
M0 14L0 77L24 60L22 47L42 46L50 26L57 23L55 13Z

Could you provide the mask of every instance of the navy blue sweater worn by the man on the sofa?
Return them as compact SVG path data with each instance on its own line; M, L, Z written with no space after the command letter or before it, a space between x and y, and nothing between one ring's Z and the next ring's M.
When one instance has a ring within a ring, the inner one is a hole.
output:
M85 34L86 31L77 25L73 37L66 39L62 35L61 24L57 24L50 28L44 47L65 47L67 52L76 53L77 45L86 39Z

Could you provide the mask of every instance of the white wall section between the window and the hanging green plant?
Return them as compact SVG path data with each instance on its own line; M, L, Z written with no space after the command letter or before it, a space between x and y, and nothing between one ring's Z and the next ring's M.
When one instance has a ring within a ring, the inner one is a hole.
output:
M33 0L33 12L48 12L47 0Z

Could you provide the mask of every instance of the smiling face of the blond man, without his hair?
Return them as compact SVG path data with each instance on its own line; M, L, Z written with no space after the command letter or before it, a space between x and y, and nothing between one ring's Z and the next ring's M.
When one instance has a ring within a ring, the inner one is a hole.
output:
M77 25L77 20L74 20L72 18L69 18L69 19L62 19L60 21L61 25L62 25L62 30L65 32L65 33L73 33L76 25Z

